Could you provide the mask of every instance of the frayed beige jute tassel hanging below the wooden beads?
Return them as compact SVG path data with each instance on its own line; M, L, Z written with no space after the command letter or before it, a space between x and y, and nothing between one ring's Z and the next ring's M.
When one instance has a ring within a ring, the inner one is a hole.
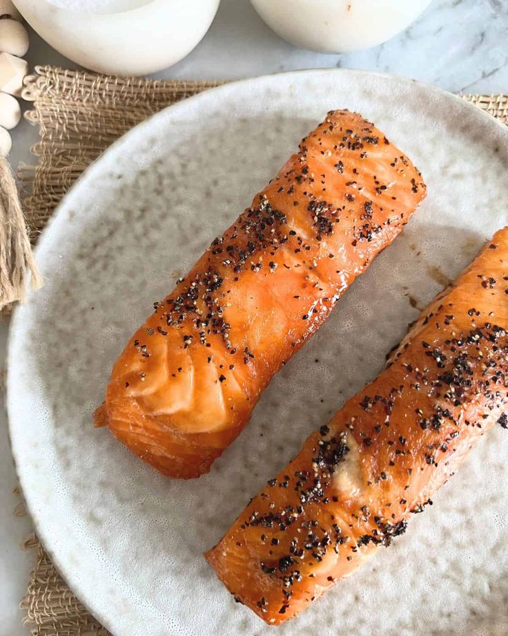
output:
M0 310L42 286L9 162L0 158Z

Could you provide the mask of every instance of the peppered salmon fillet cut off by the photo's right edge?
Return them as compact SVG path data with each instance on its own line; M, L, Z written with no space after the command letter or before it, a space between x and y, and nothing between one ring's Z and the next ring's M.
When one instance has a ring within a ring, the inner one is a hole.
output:
M273 625L302 612L508 427L507 294L505 228L206 553L237 600Z

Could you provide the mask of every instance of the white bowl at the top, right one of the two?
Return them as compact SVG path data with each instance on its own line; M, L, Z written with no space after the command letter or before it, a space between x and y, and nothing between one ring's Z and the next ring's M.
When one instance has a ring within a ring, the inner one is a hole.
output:
M377 46L431 0L251 0L268 26L298 48L346 53Z

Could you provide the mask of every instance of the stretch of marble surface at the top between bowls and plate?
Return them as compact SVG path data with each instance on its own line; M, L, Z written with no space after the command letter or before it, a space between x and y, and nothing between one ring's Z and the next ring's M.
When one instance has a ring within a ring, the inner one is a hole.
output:
M366 68L448 91L508 91L508 1L434 0L381 46L346 55L298 50L275 35L248 0L222 0L211 30L164 77L244 77L297 68Z

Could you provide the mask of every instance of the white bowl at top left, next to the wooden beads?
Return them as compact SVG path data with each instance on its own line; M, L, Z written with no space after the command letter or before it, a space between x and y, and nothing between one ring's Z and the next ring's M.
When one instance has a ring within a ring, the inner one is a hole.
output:
M146 75L179 62L204 37L220 0L148 0L115 13L77 12L49 0L14 0L48 44L100 73Z

